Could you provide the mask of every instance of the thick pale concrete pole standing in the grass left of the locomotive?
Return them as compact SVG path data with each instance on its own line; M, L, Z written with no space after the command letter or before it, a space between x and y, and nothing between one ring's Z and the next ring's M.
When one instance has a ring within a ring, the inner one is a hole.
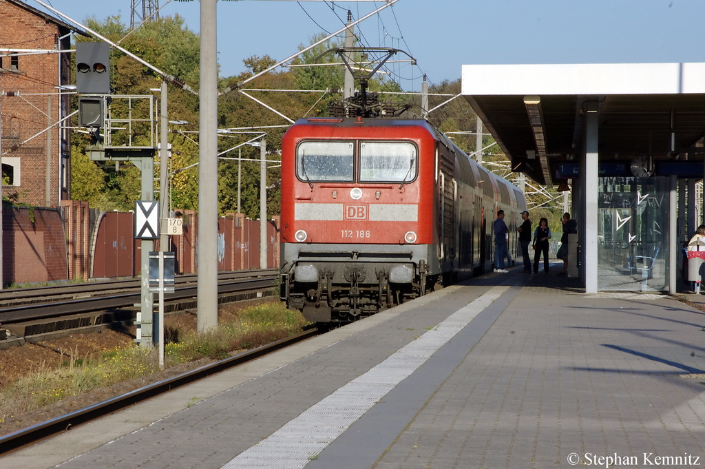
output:
M201 0L197 330L218 327L218 56L216 0Z

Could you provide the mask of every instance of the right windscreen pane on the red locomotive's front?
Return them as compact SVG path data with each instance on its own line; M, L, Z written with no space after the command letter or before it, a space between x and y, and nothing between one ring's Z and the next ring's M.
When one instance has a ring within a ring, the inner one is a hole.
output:
M407 183L416 178L417 149L411 142L362 142L360 182Z

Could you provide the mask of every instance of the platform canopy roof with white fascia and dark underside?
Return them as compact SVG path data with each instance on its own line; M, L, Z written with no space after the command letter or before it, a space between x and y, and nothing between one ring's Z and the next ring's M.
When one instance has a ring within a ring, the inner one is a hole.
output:
M705 63L465 65L462 95L539 183L579 161L587 106L599 107L600 162L703 159Z

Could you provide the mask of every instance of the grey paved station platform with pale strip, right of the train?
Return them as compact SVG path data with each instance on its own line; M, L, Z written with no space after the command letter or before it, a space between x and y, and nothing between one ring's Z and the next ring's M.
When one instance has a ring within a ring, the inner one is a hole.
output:
M705 314L520 269L429 293L0 467L705 466Z

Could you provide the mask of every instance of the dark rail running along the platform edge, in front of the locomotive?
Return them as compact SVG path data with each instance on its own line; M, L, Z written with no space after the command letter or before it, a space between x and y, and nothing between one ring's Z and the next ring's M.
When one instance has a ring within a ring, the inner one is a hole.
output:
M190 372L180 374L176 377L164 379L154 384L149 384L148 386L136 389L128 394L123 394L122 396L108 399L107 401L94 404L93 406L75 410L74 412L62 415L61 417L53 418L37 425L32 425L31 427L19 430L18 432L7 434L4 437L0 437L0 456L18 451L26 446L42 441L43 439L54 437L56 434L68 431L69 428L83 425L87 422L91 422L92 420L97 420L102 418L104 415L128 408L154 396L159 396L160 394L171 391L172 389L185 386L186 384L190 384L199 379L209 377L212 374L228 370L228 368L255 360L255 358L262 357L267 353L288 347L294 343L304 341L305 339L309 339L317 334L319 334L318 329L308 329L307 331L303 331L301 334L290 336L286 339L281 339L280 341L270 343L269 345L234 355L231 358L226 358L225 360L220 360L219 362L191 370Z

